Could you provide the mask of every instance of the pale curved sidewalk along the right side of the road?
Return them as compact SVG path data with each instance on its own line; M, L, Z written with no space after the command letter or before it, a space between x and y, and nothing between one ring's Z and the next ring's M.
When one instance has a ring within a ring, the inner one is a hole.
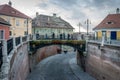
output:
M72 72L75 74L75 76L79 80L96 80L93 77L91 77L88 73L83 72L83 70L77 65L76 58L72 58L69 61L69 66L70 66Z

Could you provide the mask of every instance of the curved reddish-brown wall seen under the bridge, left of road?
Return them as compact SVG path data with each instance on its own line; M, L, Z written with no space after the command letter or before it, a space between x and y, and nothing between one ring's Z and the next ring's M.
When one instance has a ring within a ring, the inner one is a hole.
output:
M38 49L34 54L29 55L29 71L31 72L34 69L35 65L37 65L41 60L58 53L61 53L61 49L57 45Z

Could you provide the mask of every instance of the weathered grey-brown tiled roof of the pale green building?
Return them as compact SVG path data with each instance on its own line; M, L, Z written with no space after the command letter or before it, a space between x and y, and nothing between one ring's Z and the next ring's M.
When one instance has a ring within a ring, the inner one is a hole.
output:
M38 15L32 21L33 27L47 27L47 28L67 28L74 29L68 22L64 21L60 17Z

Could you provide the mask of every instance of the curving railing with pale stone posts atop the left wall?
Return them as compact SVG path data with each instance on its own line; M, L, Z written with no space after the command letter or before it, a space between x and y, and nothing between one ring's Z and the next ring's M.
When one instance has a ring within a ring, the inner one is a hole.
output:
M30 39L32 40L32 37L24 36L12 37L9 40L0 40L0 80L8 80L8 74L10 67L13 64L12 60L14 59L15 52L19 47L23 47L23 44L27 45Z

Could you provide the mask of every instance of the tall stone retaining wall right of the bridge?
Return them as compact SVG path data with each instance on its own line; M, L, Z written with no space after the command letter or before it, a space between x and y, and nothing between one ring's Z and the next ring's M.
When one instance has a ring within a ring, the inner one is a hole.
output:
M120 80L120 47L89 42L86 71L97 80Z

